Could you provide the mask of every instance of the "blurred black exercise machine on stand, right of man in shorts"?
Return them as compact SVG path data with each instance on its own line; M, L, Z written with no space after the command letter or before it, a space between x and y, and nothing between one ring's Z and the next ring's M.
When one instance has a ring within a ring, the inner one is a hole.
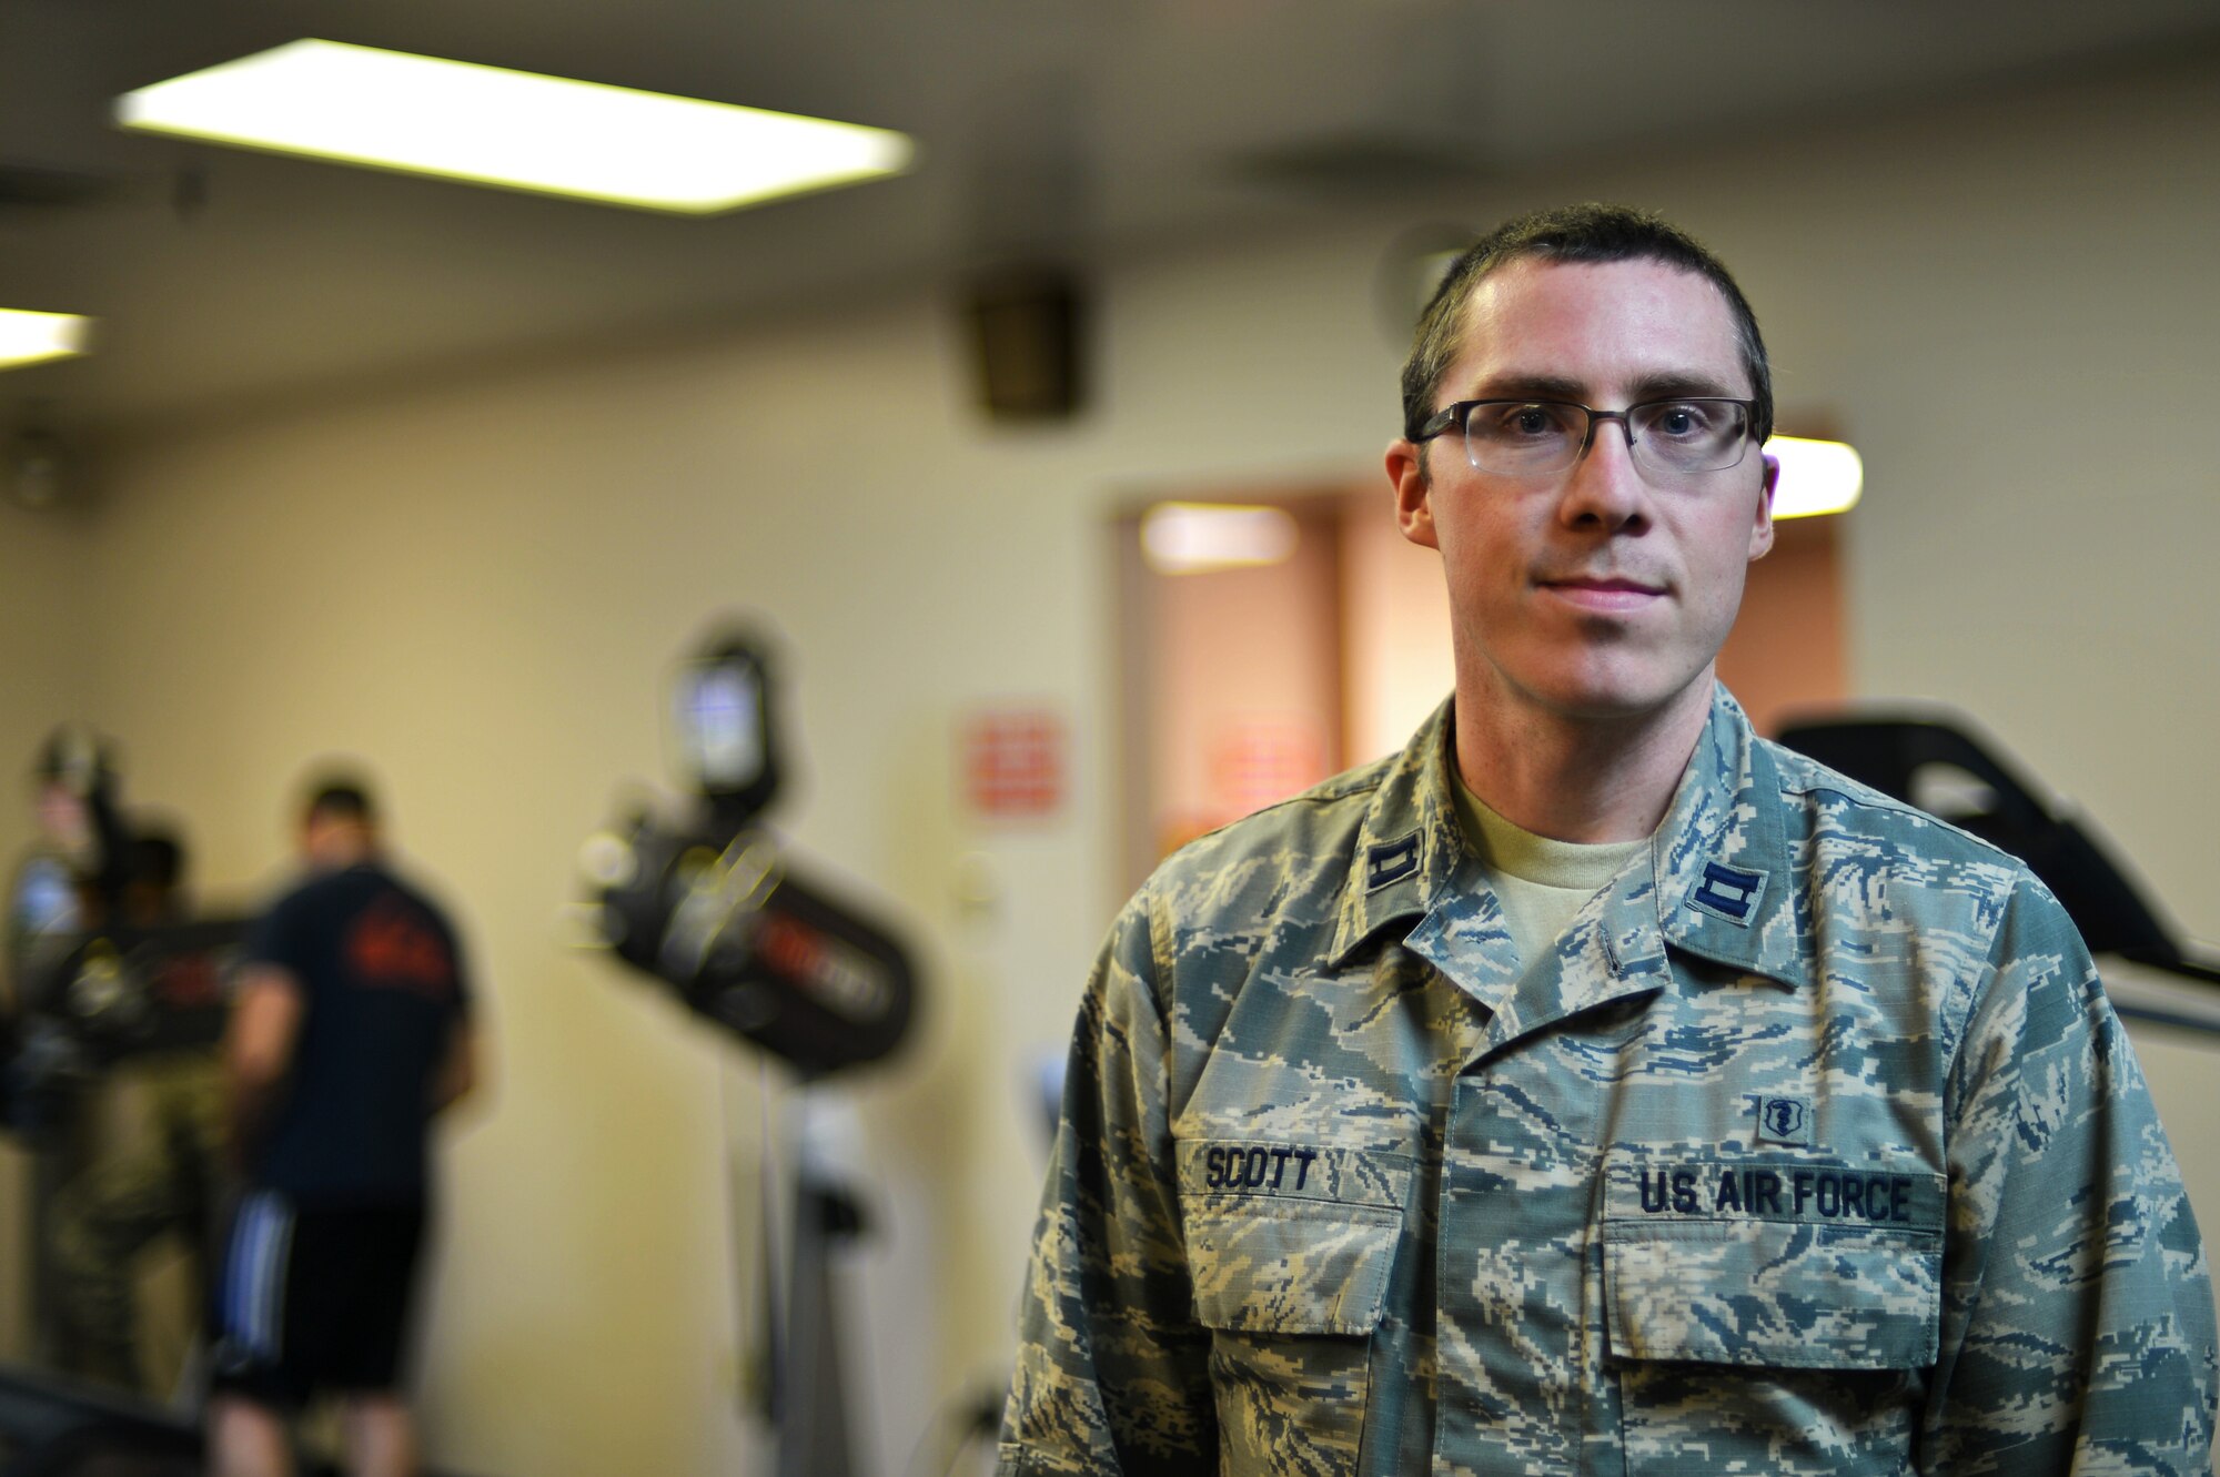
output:
M633 805L582 849L588 940L788 1062L806 1089L892 1053L917 1007L910 951L761 821L786 765L759 634L724 630L679 668L673 736L688 794ZM784 1297L766 1297L761 1404L779 1477L850 1477L833 1253L864 1231L864 1213L817 1149L810 1116L804 1091L779 1153L790 1178L784 1277L770 1264L777 1195L764 1195L764 1284ZM766 1140L777 1135L766 1113Z

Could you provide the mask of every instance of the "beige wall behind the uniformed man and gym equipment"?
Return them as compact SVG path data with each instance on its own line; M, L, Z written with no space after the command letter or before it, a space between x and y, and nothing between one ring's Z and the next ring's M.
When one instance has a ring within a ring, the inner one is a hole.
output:
M2153 73L1454 202L1485 222L1612 195L1707 235L1765 315L1783 401L1825 406L1867 457L1856 685L1971 707L2207 934L2216 133L2209 69ZM932 989L915 1051L857 1084L890 1224L861 1311L879 1470L999 1368L1041 1167L1023 1062L1063 1036L1114 905L1101 526L1137 490L1374 477L1399 355L1372 284L1405 224L1112 266L1103 399L1068 430L979 428L919 297L122 457L89 619L95 716L135 787L244 887L278 860L300 761L371 756L488 985L500 1082L455 1138L433 1320L442 1459L713 1473L746 1448L719 1386L719 1120L748 1169L746 1053L551 927L613 781L659 770L664 663L726 605L790 639L788 827L888 900ZM16 583L0 599L33 619ZM38 652L4 654L18 692L75 701ZM995 699L1072 716L1063 823L957 814L950 730ZM995 898L959 905L975 874ZM2209 1062L2162 1049L2151 1078L2220 1226Z

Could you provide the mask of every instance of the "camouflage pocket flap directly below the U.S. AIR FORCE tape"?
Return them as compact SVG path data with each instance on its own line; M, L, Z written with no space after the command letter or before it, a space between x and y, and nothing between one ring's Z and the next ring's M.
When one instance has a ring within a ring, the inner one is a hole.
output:
M1794 1220L1616 1222L1603 1300L1621 1359L1923 1368L1943 1313L1940 1237Z

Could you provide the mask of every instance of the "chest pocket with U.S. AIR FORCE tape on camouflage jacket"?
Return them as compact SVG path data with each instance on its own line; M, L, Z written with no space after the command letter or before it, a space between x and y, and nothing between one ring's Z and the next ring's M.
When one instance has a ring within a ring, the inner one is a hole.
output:
M1940 1331L1943 1178L1621 1173L1601 1240L1627 1470L1900 1470Z

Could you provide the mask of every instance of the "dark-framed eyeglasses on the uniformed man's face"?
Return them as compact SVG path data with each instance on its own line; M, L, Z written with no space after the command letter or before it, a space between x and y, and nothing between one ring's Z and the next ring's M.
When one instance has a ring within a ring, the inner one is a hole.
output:
M1743 459L1752 404L1698 395L1590 410L1563 399L1461 399L1436 410L1412 441L1432 441L1463 426L1472 470L1543 477L1587 455L1596 421L1618 421L1634 466L1654 477L1689 477L1723 472Z

